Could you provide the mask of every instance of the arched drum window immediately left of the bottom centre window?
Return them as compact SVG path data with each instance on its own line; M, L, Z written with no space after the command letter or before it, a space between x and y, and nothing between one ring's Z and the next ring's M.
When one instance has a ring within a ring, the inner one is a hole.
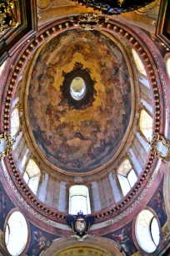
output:
M34 194L37 193L37 186L39 183L40 174L41 172L37 164L35 163L35 161L30 159L28 161L28 165L26 166L26 170L23 174L23 178Z

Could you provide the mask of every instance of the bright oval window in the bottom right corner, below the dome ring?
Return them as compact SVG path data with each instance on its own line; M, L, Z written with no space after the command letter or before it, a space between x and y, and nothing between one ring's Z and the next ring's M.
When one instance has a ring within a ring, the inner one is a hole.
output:
M158 220L153 212L143 210L135 222L135 235L139 246L147 253L153 253L158 247L160 231Z

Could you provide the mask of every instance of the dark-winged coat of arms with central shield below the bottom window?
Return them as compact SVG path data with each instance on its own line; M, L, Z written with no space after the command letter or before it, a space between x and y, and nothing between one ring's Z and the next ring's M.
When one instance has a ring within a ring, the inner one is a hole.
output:
M90 226L94 221L93 216L84 216L83 212L77 212L77 215L67 215L67 223L72 227L73 238L82 241L87 237L92 237L88 234Z

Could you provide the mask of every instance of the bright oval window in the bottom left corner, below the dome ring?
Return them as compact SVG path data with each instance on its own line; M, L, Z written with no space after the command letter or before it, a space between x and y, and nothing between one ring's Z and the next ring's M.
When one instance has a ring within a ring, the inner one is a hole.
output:
M10 255L23 252L28 242L28 224L21 212L13 212L5 228L5 244Z

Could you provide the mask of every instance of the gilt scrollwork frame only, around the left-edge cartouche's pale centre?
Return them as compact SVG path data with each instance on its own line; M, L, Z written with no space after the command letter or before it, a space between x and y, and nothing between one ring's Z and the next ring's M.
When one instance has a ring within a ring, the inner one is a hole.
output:
M15 139L8 133L2 133L0 135L0 143L2 140L7 141L7 147L5 150L0 152L0 161L4 156L9 156L13 150L13 144L15 143Z

